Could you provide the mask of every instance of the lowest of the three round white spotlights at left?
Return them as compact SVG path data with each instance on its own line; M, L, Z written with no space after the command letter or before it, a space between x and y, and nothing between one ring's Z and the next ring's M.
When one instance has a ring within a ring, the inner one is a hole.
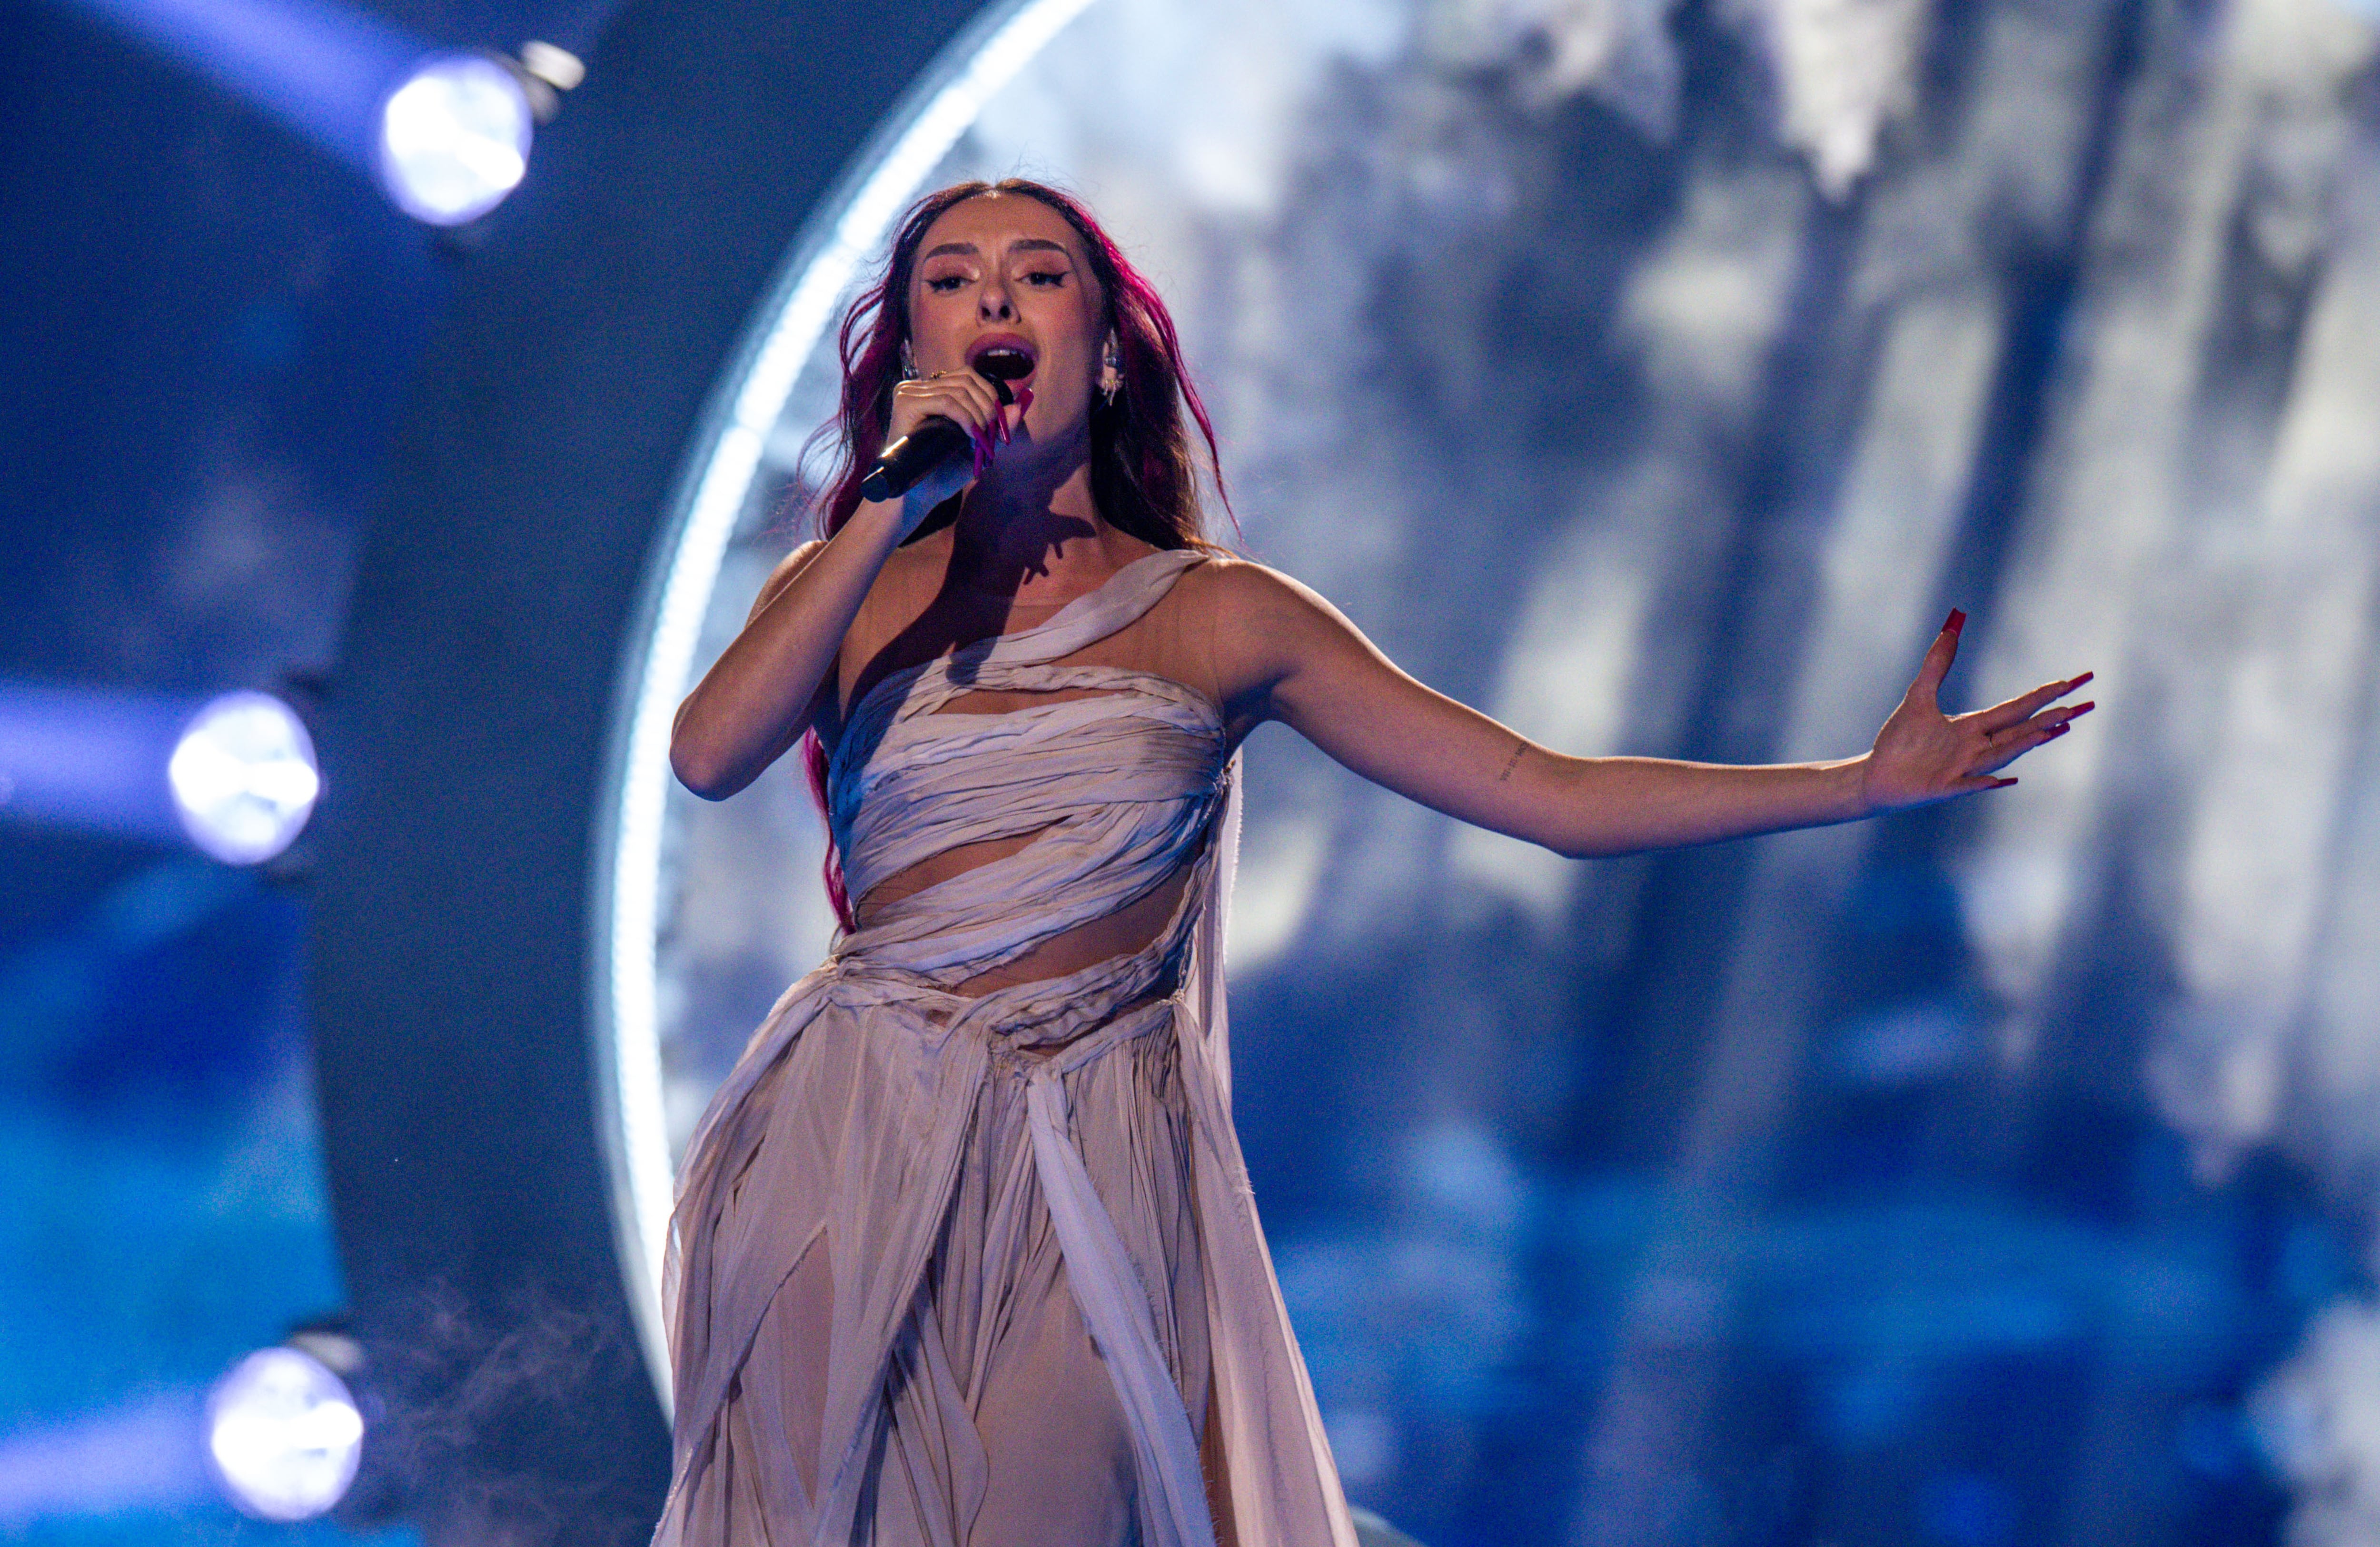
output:
M293 1347L231 1366L207 1397L207 1454L224 1492L262 1521L309 1521L345 1497L364 1449L347 1383Z

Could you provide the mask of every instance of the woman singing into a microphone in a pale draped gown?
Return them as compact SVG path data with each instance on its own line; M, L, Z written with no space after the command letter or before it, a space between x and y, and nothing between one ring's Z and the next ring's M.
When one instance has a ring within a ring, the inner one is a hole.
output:
M843 371L828 536L671 747L724 800L804 743L843 933L678 1178L666 1547L1354 1547L1230 1126L1235 750L1264 721L1585 857L1990 790L2090 709L2052 707L2075 678L1944 716L1954 614L1864 757L1528 743L1207 543L1173 321L1040 183L921 200ZM973 469L862 500L928 416Z

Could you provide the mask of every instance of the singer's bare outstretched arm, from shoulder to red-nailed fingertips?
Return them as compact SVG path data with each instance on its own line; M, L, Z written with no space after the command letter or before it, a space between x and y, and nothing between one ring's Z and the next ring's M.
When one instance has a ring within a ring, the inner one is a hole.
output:
M2052 707L2090 674L1944 716L1959 614L1861 757L1730 766L1564 757L1399 671L1330 602L1261 564L1219 576L1216 669L1233 702L1426 807L1559 854L1633 854L1859 821L2016 783L1999 778L2092 704Z

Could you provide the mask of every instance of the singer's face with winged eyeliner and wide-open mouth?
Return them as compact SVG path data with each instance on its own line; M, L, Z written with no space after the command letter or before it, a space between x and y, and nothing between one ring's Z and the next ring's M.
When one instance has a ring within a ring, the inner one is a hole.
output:
M1054 443L1090 421L1107 298L1083 240L1050 205L983 193L952 205L919 243L909 278L909 352L916 369L957 371L995 350L1021 352L1033 388L1031 440Z

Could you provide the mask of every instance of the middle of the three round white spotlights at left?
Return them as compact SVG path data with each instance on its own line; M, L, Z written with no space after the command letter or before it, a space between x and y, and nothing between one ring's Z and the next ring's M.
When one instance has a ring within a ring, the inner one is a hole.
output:
M190 843L226 864L286 850L321 795L314 740L267 693L226 693L200 709L164 774Z

